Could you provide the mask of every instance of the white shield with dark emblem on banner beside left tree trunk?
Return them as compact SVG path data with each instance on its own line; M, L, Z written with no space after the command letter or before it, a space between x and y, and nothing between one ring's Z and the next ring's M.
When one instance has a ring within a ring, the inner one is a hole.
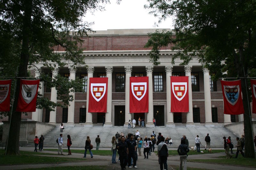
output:
M21 94L26 103L30 103L36 96L37 84L22 84Z

